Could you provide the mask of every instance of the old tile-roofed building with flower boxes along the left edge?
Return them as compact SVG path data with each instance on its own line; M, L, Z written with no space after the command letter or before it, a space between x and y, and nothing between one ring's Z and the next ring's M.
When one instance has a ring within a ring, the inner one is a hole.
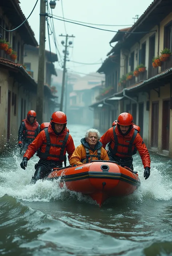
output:
M0 24L3 28L12 30L25 19L19 1L1 0ZM0 28L0 152L6 145L17 142L22 119L28 110L36 109L37 92L37 83L24 68L24 44L38 46L28 21L12 32L3 28ZM52 97L47 86L45 94Z

